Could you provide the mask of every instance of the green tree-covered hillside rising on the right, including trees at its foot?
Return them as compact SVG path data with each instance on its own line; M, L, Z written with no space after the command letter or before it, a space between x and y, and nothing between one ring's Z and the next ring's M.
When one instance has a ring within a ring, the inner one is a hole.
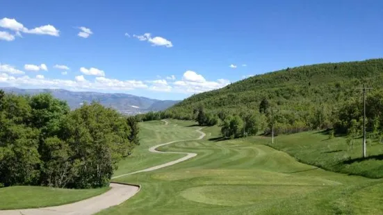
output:
M372 129L374 119L381 117L375 114L383 108L373 107L380 102L383 89L382 58L286 68L253 76L190 96L158 116L147 114L144 120L170 117L195 119L204 125L218 122L223 135L227 126L236 130L228 135L238 137L252 130L249 124L257 127L252 133L268 133L272 123L277 133L316 128L336 128L336 132L344 133L350 131L352 119L356 127L360 126L362 90L358 88L363 84L373 87L367 98L368 125ZM204 114L199 114L201 110ZM380 128L376 121L375 127Z

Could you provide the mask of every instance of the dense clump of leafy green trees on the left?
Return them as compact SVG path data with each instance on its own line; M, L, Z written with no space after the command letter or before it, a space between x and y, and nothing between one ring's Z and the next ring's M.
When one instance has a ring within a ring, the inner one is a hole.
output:
M94 188L109 184L138 141L135 117L99 103L70 110L51 94L0 90L0 187Z

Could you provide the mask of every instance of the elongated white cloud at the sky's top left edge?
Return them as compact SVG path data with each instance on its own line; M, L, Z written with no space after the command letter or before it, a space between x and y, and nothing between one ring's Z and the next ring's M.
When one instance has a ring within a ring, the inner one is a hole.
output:
M16 19L9 19L7 17L0 19L0 27L7 28L11 31L16 31L16 35L19 37L22 37L20 32L38 34L38 35L51 35L56 37L60 35L60 31L50 24L40 26L37 28L28 29L24 27L23 24L17 22Z

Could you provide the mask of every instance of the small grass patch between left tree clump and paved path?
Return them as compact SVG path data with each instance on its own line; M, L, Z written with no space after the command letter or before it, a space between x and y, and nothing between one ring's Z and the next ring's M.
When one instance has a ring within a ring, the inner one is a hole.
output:
M52 187L15 186L0 189L0 209L24 209L74 203L97 196L108 187L99 189L59 189Z

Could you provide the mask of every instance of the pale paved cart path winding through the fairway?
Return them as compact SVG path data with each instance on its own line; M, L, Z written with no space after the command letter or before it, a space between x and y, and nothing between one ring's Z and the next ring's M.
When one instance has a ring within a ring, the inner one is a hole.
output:
M168 121L162 120L165 122L165 126L168 125ZM205 133L201 131L202 128L197 129L196 131L199 132L201 135L197 139L183 139L183 140L177 140L177 141L170 141L165 144L159 144L157 146L153 146L149 148L149 151L152 153L177 153L177 154L184 154L186 156L181 157L178 160L174 160L172 162L168 162L165 164L152 166L148 169L143 169L140 171L136 171L133 173L127 173L123 175L117 175L114 178L120 178L126 175L132 175L136 173L142 173L147 171L154 171L156 169L161 169L166 166L171 166L174 164L177 164L179 162L183 162L185 160L188 160L192 157L195 157L197 153L181 153L181 152L162 152L159 150L156 150L156 148L165 146L168 144L173 144L175 142L179 141L190 141L190 140L198 140L202 139L205 136ZM124 201L128 200L132 196L134 196L136 193L140 191L139 186L135 185L129 185L129 184L118 184L111 182L111 189L109 191L106 191L106 193L102 193L99 196L94 196L92 198L88 198L85 200L81 200L76 203L71 203L67 205L60 205L60 206L54 206L54 207L42 207L42 208L36 208L36 209L13 209L13 210L0 210L0 215L58 215L58 214L71 214L71 215L88 215L88 214L95 214L102 209L106 209L108 207L112 207L115 205L120 205Z

